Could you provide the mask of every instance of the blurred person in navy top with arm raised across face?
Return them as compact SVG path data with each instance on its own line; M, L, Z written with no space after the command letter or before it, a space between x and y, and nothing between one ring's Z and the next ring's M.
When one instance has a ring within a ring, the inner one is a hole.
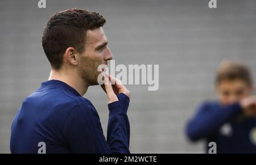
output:
M187 136L206 139L206 153L213 151L209 142L216 143L215 153L256 153L256 97L249 68L223 61L215 82L218 101L200 105L188 122Z

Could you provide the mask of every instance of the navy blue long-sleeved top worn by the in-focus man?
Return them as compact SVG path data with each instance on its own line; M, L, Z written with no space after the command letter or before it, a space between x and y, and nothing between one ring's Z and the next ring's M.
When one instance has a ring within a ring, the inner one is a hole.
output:
M105 139L93 104L68 84L51 80L26 98L11 126L11 153L130 153L129 98L108 104ZM46 151L42 152L42 146Z

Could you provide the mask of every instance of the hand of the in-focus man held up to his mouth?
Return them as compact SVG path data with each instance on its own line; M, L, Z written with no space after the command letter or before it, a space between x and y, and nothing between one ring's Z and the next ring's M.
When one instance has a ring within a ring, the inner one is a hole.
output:
M118 94L125 94L130 98L130 91L119 81L109 74L104 76L104 84L101 85L102 89L108 95L108 104L118 101Z

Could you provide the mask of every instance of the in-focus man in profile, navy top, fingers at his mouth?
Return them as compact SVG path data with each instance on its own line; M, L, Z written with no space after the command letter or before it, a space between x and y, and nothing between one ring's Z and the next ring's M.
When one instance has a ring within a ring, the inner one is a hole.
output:
M102 29L105 22L100 14L79 9L57 12L48 20L42 45L51 74L16 114L11 153L130 153L130 92L126 87L104 76L107 140L96 109L82 97L89 86L98 84L101 72L97 67L112 60Z

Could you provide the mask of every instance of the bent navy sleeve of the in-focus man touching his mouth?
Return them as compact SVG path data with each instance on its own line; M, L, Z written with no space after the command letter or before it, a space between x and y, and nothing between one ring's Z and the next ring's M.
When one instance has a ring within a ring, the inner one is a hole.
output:
M64 124L64 137L72 153L129 153L130 125L121 101L108 105L109 124L105 139L100 117L93 105L76 105Z

